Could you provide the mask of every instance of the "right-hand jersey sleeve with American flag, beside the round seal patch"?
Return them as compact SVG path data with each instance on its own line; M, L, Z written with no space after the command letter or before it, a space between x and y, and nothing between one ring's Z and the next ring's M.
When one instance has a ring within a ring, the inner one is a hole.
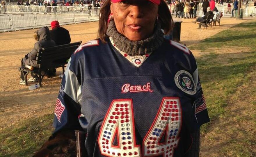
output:
M191 66L193 70L193 79L196 85L196 94L193 96L192 108L195 116L196 121L196 128L199 128L202 124L208 123L209 116L205 101L205 96L202 90L199 74L198 74L198 67L195 61L193 54L191 53Z

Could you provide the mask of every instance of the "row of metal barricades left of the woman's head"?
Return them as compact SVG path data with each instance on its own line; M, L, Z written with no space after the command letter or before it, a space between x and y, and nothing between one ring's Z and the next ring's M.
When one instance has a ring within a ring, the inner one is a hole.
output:
M48 9L48 8L47 8ZM86 21L98 21L100 8L80 8L77 11L55 12L54 8L49 8L47 12L23 13L0 16L0 30L19 30L27 28L38 28L49 26L51 21L57 20L60 24L79 23Z

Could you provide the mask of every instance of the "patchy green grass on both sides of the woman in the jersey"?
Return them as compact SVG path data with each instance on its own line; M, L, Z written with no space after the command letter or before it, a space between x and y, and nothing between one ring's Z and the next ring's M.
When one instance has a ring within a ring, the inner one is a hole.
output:
M207 30L204 30L207 31ZM197 62L211 122L201 127L200 156L256 156L256 21L199 44ZM53 131L54 114L28 119L0 134L0 156L32 156Z

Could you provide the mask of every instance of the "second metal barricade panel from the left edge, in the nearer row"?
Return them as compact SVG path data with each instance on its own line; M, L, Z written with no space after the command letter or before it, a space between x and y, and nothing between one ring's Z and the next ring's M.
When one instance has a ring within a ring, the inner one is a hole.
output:
M12 15L13 28L35 27L34 14L13 14Z

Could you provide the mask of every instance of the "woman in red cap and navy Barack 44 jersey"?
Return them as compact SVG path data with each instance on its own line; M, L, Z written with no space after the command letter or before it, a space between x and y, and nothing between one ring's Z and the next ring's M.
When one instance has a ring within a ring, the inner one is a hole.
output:
M166 2L107 0L100 14L99 39L71 56L54 133L35 156L75 156L75 129L89 157L198 156L209 117L192 53L163 38Z

